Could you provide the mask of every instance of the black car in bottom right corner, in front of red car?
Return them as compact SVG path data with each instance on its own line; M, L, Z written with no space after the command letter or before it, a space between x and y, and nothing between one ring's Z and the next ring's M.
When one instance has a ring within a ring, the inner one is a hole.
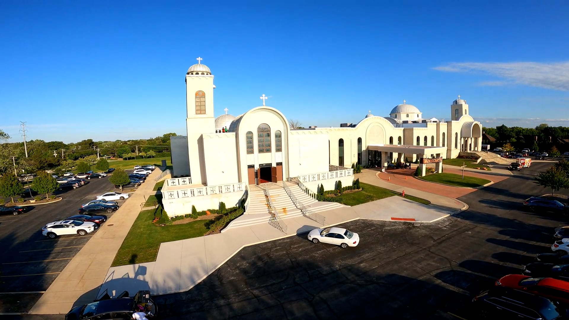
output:
M559 303L528 292L496 286L473 300L480 318L561 320L566 311Z

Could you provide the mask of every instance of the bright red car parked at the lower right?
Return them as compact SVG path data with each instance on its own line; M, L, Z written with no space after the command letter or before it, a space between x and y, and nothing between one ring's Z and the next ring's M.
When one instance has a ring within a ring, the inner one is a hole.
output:
M527 291L553 301L569 303L569 282L563 280L508 274L496 281L496 285Z

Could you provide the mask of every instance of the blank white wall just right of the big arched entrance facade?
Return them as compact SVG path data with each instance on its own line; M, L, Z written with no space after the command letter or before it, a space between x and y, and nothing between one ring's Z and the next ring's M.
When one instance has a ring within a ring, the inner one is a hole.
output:
M290 177L328 171L328 134L292 130L288 136L288 150Z

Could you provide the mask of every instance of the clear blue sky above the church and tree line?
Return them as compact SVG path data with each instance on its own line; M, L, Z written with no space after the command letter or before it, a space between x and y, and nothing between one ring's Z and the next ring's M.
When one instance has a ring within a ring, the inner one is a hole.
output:
M216 116L267 105L304 126L402 103L485 126L569 126L569 5L477 2L0 3L0 129L46 141L185 134L187 68Z

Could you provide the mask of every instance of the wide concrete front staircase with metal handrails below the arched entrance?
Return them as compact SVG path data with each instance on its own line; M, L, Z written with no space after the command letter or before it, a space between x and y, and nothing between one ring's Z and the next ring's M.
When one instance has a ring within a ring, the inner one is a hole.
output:
M308 196L298 184L292 182L284 182L287 184L288 188L296 199L299 202L302 202L304 206L311 210L312 212L322 212L327 211L335 208L346 207L343 204L337 202L319 202L312 199ZM302 216L302 211L295 206L292 202L292 199L284 188L279 185L282 182L276 183L265 183L263 187L269 190L269 194L271 196L271 201L273 202L273 206L275 210L277 210L278 216L285 220L290 218L295 218L298 216ZM233 220L229 223L228 228L238 228L238 227L246 227L248 225L260 224L260 223L268 223L270 218L269 207L267 206L267 200L265 198L265 192L257 186L250 185L249 186L249 207L244 215L240 216L236 220Z

